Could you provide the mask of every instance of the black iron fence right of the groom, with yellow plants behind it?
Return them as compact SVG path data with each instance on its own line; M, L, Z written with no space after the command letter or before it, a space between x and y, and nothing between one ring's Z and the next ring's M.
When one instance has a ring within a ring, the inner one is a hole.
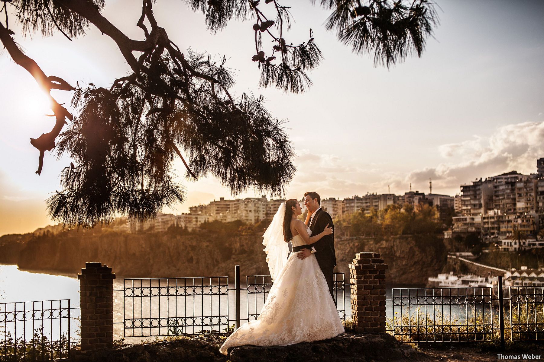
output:
M544 287L393 289L387 331L405 342L544 340Z

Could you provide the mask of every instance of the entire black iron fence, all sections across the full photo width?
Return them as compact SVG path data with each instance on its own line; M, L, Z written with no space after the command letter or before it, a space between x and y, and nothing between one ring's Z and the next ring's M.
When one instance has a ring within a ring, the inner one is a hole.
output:
M269 275L125 279L126 337L221 333L258 317ZM502 276L497 285L502 285ZM334 274L338 315L349 320L351 284ZM544 340L544 287L393 288L387 332L404 342ZM347 293L346 293L347 292ZM70 300L0 303L0 361L69 359L79 307ZM74 333L75 332L75 333Z

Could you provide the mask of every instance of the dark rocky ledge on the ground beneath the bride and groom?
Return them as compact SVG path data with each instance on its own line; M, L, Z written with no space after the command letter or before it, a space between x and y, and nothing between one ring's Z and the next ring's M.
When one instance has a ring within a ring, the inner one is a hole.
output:
M180 338L81 352L73 350L72 362L283 362L283 361L413 361L426 357L387 333L344 333L333 339L281 347L241 346L219 353L217 340Z

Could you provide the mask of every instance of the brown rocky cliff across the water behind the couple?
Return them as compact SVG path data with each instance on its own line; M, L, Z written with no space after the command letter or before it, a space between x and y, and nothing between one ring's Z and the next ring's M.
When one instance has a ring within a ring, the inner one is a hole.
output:
M0 241L4 237L0 238ZM123 277L233 277L234 265L243 275L268 274L262 232L145 233L70 232L33 237L9 258L21 269L76 274L85 262L112 266ZM1 245L1 243L0 243ZM425 284L446 263L446 248L437 236L336 240L337 269L348 273L356 252L381 253L389 265L388 283ZM8 263L0 250L0 263Z

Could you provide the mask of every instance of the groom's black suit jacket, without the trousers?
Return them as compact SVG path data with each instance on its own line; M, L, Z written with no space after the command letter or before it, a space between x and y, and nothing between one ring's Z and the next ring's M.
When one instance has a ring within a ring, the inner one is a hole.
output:
M313 217L310 224L310 230L312 230L312 236L315 236L325 229L325 226L329 224L329 227L334 227L332 224L332 218L329 213L319 209ZM313 243L311 246L316 248L316 259L319 267L323 270L325 268L331 268L336 266L336 252L335 252L335 238L334 233L325 235L319 239L318 242ZM332 277L332 276L331 276Z

